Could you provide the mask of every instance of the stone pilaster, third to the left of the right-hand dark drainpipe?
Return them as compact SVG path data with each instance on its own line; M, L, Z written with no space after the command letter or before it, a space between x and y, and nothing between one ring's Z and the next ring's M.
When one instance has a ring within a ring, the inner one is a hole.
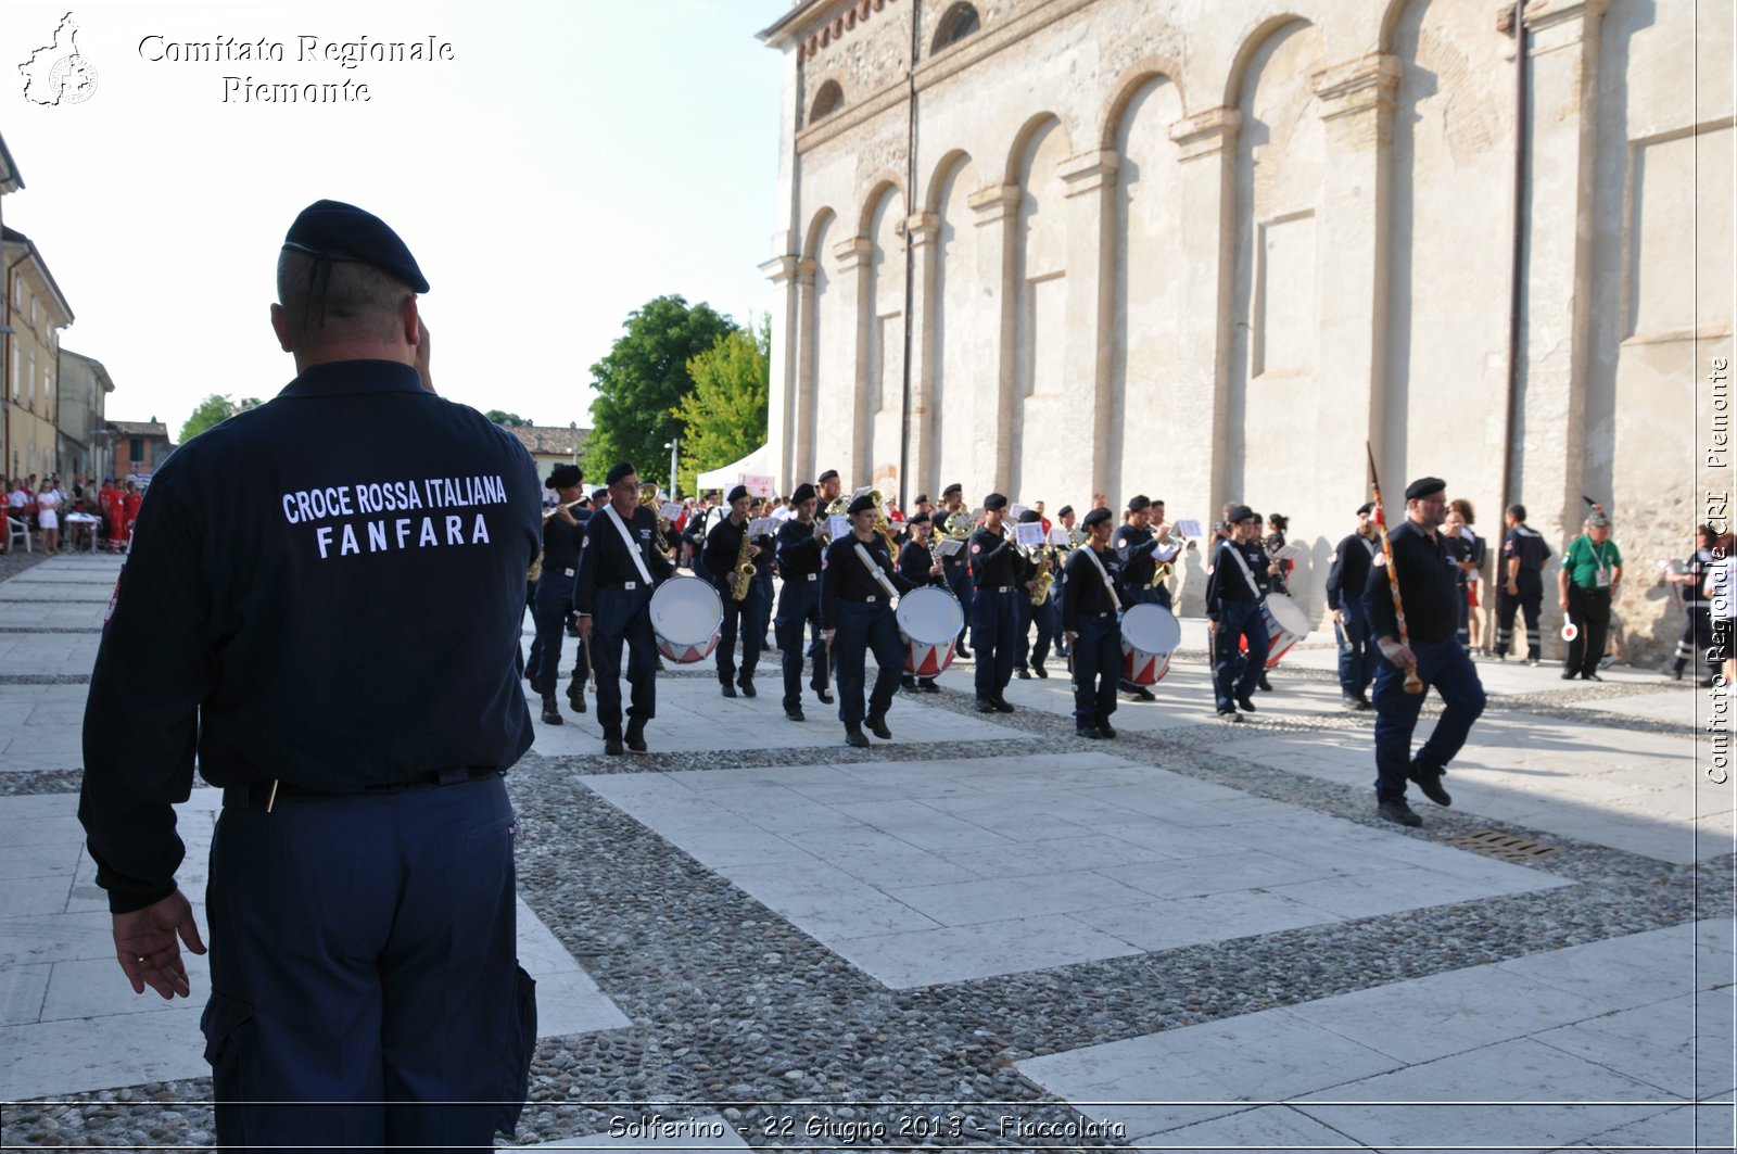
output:
M1068 292L1067 349L1063 365L1068 381L1091 381L1091 412L1084 421L1070 421L1056 429L1056 450L1075 468L1091 462L1091 488L1110 492L1110 318L1115 309L1115 170L1122 158L1115 151L1073 156L1061 165L1068 196ZM1072 389L1068 389L1072 393Z

